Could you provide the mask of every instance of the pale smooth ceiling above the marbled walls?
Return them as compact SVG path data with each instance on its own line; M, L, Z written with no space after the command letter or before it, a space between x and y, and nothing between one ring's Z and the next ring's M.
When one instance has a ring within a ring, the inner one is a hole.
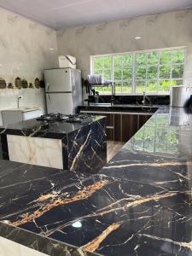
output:
M192 7L192 0L0 0L0 6L55 29Z

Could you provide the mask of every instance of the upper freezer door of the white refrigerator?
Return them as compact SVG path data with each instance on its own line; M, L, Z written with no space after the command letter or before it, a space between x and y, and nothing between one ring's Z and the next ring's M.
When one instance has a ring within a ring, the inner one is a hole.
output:
M45 92L69 92L75 86L71 68L44 70Z

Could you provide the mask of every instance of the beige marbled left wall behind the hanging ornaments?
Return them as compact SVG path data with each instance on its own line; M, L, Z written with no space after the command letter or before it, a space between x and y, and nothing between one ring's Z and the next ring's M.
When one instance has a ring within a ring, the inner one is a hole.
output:
M45 68L57 67L54 30L4 9L0 9L0 24L0 78L7 84L15 84L18 76L34 84L36 78L43 78ZM0 110L16 108L17 95L24 96L23 106L42 106L44 111L43 89L0 90Z

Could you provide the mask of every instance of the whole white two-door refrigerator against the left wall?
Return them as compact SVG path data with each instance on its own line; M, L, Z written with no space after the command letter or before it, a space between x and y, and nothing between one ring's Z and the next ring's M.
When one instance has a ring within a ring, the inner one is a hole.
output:
M44 70L48 113L76 113L82 104L81 72L73 68Z

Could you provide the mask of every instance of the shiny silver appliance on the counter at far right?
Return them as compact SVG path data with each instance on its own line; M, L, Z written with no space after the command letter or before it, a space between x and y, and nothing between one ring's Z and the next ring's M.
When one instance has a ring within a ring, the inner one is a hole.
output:
M178 85L171 87L171 107L185 107L190 100L190 87Z

